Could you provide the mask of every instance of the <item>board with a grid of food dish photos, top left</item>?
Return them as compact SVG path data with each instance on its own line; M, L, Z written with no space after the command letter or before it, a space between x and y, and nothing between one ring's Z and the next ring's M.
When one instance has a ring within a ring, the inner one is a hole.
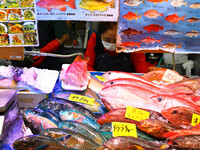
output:
M0 46L38 46L34 0L0 0Z

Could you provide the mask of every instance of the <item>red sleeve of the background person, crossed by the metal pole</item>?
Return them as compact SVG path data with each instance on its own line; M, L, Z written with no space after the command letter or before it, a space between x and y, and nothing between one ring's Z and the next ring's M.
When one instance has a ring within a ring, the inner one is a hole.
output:
M49 42L46 46L44 46L43 48L41 48L40 52L43 53L54 53L58 50L60 46L60 43L58 42L58 40L53 40L51 42ZM33 63L33 66L39 66L45 59L45 56L35 56L33 57L33 60L35 61Z

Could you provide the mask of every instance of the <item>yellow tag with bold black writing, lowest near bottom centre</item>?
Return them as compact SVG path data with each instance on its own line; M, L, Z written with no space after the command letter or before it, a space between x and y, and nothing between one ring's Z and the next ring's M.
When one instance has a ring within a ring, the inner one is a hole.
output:
M137 138L136 125L124 122L112 122L113 137L117 136L132 136Z

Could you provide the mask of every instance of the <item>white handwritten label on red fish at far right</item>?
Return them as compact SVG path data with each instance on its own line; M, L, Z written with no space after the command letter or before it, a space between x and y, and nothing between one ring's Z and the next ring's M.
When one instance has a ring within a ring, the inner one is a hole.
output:
M162 80L167 83L174 83L183 80L183 77L175 73L174 71L167 69L162 77Z

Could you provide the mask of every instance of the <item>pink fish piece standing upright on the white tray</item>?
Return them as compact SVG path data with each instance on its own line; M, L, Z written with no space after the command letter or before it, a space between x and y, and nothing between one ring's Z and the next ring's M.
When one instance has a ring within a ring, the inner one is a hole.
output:
M87 62L85 60L78 60L73 62L67 70L62 69L60 80L62 80L65 84L78 87L88 85L90 73L87 72Z

